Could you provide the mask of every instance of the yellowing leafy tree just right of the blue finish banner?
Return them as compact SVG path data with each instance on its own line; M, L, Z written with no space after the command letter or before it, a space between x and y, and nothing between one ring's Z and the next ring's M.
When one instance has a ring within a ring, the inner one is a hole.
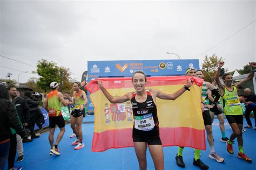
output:
M212 82L212 77L215 76L218 69L218 62L224 61L222 57L217 56L215 53L208 57L205 55L202 64L202 70L204 73L204 80L208 82ZM227 72L227 69L225 70Z

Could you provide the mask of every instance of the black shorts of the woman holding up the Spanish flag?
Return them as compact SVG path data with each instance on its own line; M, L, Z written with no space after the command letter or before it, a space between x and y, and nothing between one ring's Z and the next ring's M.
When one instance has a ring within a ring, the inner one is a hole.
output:
M132 138L133 142L146 142L147 145L162 145L158 126L154 126L150 131L138 130L133 126Z

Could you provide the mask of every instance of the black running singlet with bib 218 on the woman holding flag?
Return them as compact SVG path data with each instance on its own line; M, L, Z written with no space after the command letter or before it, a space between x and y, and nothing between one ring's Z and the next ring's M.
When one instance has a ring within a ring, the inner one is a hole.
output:
M158 127L158 117L157 117L157 106L153 101L151 93L146 90L147 99L143 103L139 103L135 100L136 93L131 97L132 102L132 112L134 118L133 128L150 131L154 126Z

